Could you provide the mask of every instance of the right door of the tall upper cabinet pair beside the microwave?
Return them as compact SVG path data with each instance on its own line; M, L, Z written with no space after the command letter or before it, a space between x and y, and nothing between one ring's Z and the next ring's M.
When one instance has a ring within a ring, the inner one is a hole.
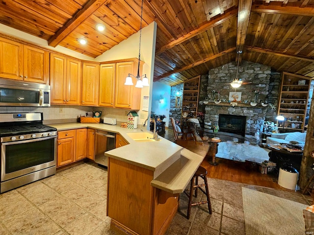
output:
M79 105L81 91L81 62L67 59L66 104Z

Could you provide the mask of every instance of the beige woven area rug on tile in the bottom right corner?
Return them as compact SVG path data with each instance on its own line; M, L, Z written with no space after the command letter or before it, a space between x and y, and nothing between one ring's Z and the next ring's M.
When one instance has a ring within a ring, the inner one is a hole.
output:
M242 187L245 234L305 234L303 209L308 205Z

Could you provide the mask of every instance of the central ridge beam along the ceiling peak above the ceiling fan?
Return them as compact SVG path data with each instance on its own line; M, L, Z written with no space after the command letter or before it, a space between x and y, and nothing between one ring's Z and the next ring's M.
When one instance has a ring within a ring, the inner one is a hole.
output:
M236 51L243 51L247 27L251 14L252 0L239 0L238 17L237 17L237 32L236 32ZM241 63L242 53L238 53L236 57ZM236 59L236 60L237 60Z

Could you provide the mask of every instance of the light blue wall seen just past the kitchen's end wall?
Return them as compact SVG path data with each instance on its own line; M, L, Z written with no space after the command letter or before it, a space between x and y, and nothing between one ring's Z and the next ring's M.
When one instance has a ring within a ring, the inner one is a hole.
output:
M153 93L152 93L152 112L156 115L165 115L164 121L166 126L169 126L169 110L170 110L170 94L171 87L160 82L154 82ZM163 103L159 102L163 98Z

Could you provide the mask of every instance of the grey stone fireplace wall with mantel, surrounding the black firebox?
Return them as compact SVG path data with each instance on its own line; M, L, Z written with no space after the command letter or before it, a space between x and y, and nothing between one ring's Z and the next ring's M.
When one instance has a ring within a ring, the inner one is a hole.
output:
M254 136L257 130L261 130L264 120L276 121L280 73L271 71L269 66L242 61L239 65L238 78L252 83L242 85L235 90L229 84L235 77L235 62L209 70L208 79L201 80L201 88L203 85L203 89L200 91L199 100L212 98L212 90L216 90L219 92L216 94L216 98L219 98L222 102L219 104L209 102L199 105L198 110L205 113L204 122L219 125L222 132L226 132L226 129L221 129L220 115L245 117L245 119L243 118L244 130L241 129L237 134ZM260 100L260 103L267 100L267 103L271 103L272 106L263 107L261 104L251 106L250 102L255 98L254 90L259 92L258 100ZM228 102L230 92L241 92L241 102L238 102L237 106L232 106ZM228 132L231 131L228 130Z

